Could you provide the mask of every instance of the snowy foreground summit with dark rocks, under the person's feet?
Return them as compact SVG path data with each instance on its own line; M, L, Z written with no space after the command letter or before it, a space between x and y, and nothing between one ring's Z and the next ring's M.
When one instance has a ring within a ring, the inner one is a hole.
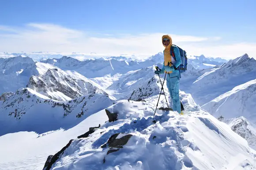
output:
M198 109L183 116L157 112L154 124L155 104L156 100L117 101L106 109L107 123L49 156L44 170L256 168L256 152L226 123Z

